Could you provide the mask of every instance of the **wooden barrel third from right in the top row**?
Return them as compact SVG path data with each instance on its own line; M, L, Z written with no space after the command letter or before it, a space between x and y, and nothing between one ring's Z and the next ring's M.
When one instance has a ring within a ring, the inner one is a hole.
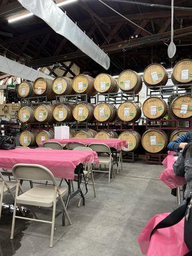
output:
M127 94L137 94L141 91L142 88L141 76L133 70L124 70L118 76L118 86L122 92Z

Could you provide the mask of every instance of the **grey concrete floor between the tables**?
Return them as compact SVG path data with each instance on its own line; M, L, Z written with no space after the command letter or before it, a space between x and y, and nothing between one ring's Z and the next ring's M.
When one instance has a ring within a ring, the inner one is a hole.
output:
M72 226L62 227L58 216L53 248L49 248L51 228L44 223L17 220L15 239L10 241L12 216L3 216L0 256L140 256L136 239L147 221L177 207L170 189L158 180L162 170L163 166L142 162L124 163L111 184L107 175L96 174L97 198L90 186L84 207L77 207L78 196L72 199L68 208ZM49 209L37 212L51 219Z

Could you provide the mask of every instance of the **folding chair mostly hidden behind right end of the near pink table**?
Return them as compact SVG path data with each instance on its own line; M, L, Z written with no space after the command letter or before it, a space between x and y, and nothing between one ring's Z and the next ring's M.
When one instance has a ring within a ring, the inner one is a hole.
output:
M73 150L85 150L85 151L92 151L92 148L88 148L88 147L76 147L74 148ZM85 189L85 183L86 184L90 184L89 181L90 181L90 177L92 177L92 184L90 185L93 185L93 192L94 192L94 196L96 197L96 193L95 193L95 181L94 181L94 177L93 177L93 172L92 172L92 164L85 164L84 165L84 185L83 185L83 188L82 188L82 192L84 191ZM80 207L81 205L81 200L82 198L80 197L79 199L79 204L78 204L78 207Z

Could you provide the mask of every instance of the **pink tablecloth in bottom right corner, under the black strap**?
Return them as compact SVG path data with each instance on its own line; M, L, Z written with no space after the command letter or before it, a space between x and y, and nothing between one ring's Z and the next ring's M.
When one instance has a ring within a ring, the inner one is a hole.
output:
M141 252L147 256L183 256L189 252L184 243L184 219L173 227L156 230L150 239L150 232L157 223L168 216L168 212L155 215L143 228L138 237Z

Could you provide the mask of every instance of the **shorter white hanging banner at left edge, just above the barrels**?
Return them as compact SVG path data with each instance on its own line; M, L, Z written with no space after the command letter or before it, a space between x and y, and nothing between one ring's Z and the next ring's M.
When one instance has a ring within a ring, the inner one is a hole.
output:
M5 56L0 55L0 71L9 74L12 76L17 76L22 79L26 79L29 81L35 81L38 77L44 77L49 79L54 79L51 76L47 76L45 73L35 70L33 68L29 68L23 64L20 64L16 61L10 60Z

